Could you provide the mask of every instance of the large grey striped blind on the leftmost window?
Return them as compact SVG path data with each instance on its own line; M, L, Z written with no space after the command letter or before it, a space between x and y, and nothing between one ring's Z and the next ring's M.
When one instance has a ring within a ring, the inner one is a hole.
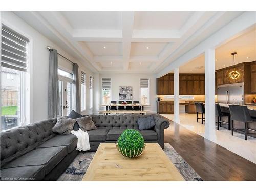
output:
M28 42L28 38L3 25L1 41L2 66L19 71L27 71Z

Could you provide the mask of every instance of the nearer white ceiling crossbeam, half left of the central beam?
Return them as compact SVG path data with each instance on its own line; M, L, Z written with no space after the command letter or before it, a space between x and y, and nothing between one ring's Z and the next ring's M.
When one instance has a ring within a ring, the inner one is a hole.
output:
M122 30L75 29L73 39L85 42L122 42Z

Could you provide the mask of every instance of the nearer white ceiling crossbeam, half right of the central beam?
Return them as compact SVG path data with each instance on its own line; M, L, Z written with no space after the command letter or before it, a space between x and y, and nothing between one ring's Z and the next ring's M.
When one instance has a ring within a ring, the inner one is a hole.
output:
M181 37L179 30L133 30L132 42L175 42Z

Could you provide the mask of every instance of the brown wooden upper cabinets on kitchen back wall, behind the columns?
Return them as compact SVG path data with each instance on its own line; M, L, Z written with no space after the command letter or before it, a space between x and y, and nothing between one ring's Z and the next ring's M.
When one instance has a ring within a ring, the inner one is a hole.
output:
M180 74L180 95L204 95L204 74ZM157 79L157 95L174 95L174 74Z

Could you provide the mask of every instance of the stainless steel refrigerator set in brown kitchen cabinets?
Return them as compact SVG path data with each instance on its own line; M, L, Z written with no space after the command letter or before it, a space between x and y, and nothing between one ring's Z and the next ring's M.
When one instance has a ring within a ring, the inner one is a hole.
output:
M217 102L244 105L244 83L218 86Z

